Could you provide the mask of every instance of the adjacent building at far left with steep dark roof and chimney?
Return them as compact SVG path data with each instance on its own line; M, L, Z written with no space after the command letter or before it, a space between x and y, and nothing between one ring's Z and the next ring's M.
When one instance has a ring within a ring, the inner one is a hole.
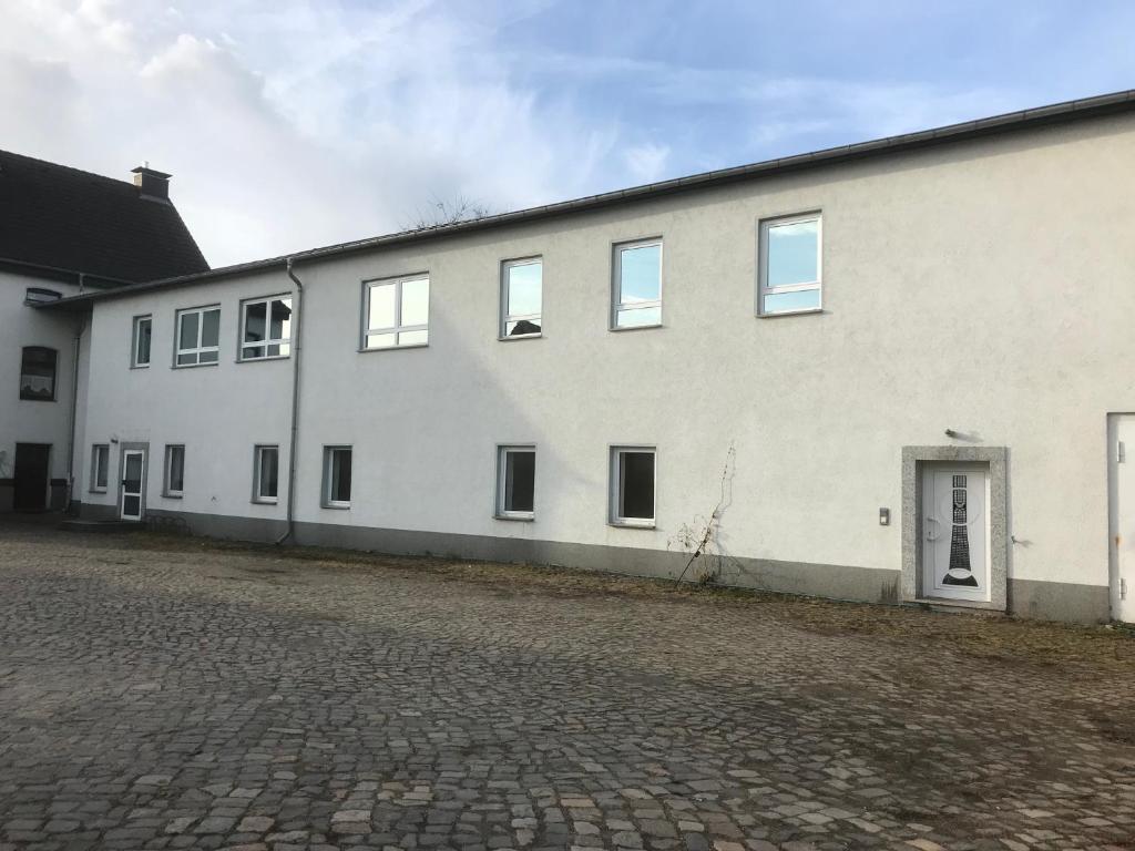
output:
M87 313L33 307L209 269L169 200L169 175L134 182L0 151L0 512L61 509L85 418Z

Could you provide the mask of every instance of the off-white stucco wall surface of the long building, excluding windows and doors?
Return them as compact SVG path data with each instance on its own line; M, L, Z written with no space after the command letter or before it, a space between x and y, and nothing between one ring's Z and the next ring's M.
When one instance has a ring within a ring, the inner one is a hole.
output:
M901 449L1008 447L1010 580L1108 583L1105 414L1135 410L1135 121L1048 128L787 174L299 268L306 284L296 516L304 523L664 550L718 496L721 545L813 571L901 568ZM824 312L754 315L757 222L822 210ZM659 329L611 332L612 243L662 236ZM496 336L499 262L544 258L544 336ZM360 281L430 273L428 348L359 353ZM85 445L187 445L149 505L250 502L289 361L235 363L237 302L283 273L100 303ZM174 310L219 301L221 362L171 370ZM128 365L154 314L154 363ZM536 521L493 519L496 444L537 445ZM657 528L607 519L612 444L658 450ZM320 507L325 444L354 447L350 511ZM155 485L157 483L157 485ZM112 500L111 500L112 502ZM878 508L892 509L889 526ZM808 567L814 565L814 567ZM822 582L821 582L822 584Z

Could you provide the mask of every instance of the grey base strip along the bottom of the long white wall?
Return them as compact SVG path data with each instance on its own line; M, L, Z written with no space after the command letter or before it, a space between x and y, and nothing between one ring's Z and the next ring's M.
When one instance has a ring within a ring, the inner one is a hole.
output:
M83 505L82 516L115 520L117 511L114 506ZM176 525L192 534L260 544L278 540L287 529L284 521L259 517L170 511L148 511L146 516L157 519L159 525ZM656 579L676 579L689 562L686 554L665 550L329 523L296 523L294 542L389 555L547 564ZM901 571L724 558L708 563L698 559L687 579L695 581L706 566L717 571L720 584L734 588L864 603L899 601ZM1096 623L1107 621L1109 614L1105 587L1010 580L1010 600L1012 613L1023 617Z

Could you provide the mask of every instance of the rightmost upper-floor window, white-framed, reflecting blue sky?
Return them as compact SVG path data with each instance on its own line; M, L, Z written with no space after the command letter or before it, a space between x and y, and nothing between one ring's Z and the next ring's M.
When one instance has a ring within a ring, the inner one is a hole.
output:
M819 213L760 222L760 315L821 307Z

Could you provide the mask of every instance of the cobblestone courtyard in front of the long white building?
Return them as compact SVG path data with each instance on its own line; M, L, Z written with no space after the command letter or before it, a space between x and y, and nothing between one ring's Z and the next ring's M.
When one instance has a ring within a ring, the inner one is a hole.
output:
M1132 848L1129 637L0 525L0 849Z

